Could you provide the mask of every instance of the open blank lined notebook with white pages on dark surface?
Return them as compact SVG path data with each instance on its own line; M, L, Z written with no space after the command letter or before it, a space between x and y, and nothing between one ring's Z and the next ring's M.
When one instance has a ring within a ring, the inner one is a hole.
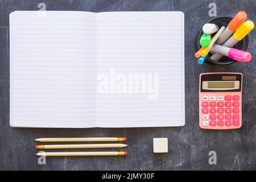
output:
M14 11L13 127L183 126L184 14Z

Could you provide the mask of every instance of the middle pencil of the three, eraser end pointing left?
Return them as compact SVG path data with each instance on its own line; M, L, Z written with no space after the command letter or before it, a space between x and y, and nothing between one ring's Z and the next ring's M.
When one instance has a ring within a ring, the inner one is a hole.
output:
M56 148L122 148L127 144L106 143L106 144L49 144L36 146L36 149L56 149Z

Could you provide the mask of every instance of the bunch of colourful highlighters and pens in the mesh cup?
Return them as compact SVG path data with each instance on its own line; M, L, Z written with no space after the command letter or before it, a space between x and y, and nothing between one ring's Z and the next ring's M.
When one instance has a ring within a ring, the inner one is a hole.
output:
M204 34L200 38L202 46L195 56L197 62L203 64L208 53L213 53L210 59L218 61L222 56L228 56L233 60L247 63L251 60L249 52L232 48L254 28L254 23L247 20L247 14L240 11L229 22L228 27L219 28L216 24L207 23L203 26ZM217 32L217 33L216 33ZM212 34L216 33L213 37Z

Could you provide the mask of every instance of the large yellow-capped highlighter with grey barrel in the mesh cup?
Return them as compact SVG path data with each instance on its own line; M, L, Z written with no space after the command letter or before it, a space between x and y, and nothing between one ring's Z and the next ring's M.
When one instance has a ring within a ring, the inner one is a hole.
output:
M254 23L250 20L247 20L246 22L243 22L240 27L237 28L236 32L234 32L234 35L230 37L222 46L225 47L234 47L240 40L245 38L247 34L254 28ZM222 55L220 53L213 53L212 56L210 56L210 59L214 61L220 60Z

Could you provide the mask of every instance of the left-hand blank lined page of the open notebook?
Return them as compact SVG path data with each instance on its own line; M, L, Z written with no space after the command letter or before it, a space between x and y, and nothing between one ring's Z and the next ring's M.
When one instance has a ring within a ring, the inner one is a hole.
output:
M10 124L94 127L96 14L10 14Z

